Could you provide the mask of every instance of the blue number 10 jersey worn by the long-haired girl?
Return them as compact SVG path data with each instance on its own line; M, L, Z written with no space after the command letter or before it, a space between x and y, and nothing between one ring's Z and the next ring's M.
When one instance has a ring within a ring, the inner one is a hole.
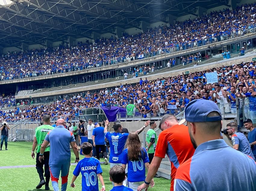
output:
M145 148L142 148L142 157L140 160L128 160L128 149L123 150L122 164L128 164L128 181L140 182L145 180L145 163L149 163L148 154Z

